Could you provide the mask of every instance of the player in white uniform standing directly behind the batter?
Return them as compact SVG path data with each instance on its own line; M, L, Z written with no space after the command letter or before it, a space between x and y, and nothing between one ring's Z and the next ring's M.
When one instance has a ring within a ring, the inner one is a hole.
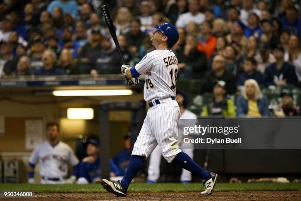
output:
M177 91L176 100L180 106L181 117L180 120L185 119L189 121L180 121L178 125L178 130L183 131L183 127L193 127L197 123L197 116L185 109L188 104L188 97L184 92ZM179 146L183 152L185 152L190 158L193 159L193 145L183 143L183 135L179 135ZM189 136L185 136L189 137ZM148 169L148 181L147 183L157 182L160 176L160 162L161 162L162 153L159 146L157 146L151 153L150 164ZM191 181L191 172L186 169L182 169L181 173L181 183L189 183Z

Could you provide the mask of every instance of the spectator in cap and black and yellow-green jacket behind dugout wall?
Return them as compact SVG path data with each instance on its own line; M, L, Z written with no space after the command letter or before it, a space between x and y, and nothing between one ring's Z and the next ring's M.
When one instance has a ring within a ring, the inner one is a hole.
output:
M234 102L227 97L225 81L214 80L213 94L213 100L205 104L201 116L220 115L224 117L235 117Z

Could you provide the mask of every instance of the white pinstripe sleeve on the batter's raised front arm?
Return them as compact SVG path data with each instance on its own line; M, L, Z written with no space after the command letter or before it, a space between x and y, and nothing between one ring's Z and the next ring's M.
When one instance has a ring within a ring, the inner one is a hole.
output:
M159 53L148 53L143 59L136 64L135 69L139 74L144 74L151 70L152 64L161 57Z

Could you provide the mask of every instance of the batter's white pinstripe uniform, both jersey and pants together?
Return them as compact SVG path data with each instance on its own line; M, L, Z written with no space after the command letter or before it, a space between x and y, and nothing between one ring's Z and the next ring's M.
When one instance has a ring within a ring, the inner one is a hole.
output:
M180 108L171 98L176 96L178 60L169 49L154 50L135 69L146 74L144 99L154 106L148 110L132 155L147 158L158 145L163 157L171 163L181 152L178 145Z

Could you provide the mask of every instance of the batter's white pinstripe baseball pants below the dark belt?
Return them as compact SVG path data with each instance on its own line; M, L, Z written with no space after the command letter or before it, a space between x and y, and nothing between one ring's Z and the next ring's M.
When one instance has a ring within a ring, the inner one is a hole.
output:
M159 100L160 104L148 110L132 155L148 158L158 145L163 157L171 163L181 152L178 145L178 121L181 116L176 100Z

